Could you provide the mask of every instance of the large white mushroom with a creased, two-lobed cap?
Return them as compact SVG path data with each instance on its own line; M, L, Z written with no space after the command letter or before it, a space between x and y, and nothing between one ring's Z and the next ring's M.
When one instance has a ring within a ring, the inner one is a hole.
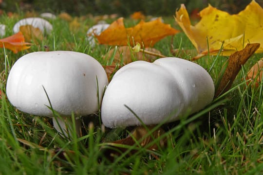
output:
M128 106L147 125L172 122L204 108L213 97L213 80L198 64L173 57L135 61L113 76L101 119L110 128L140 125Z

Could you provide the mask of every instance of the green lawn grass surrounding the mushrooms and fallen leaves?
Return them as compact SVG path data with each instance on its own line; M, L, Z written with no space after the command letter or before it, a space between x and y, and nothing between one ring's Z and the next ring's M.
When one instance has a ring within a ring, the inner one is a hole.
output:
M166 18L165 18L166 19ZM7 34L17 18L1 16ZM174 20L166 21L175 25ZM102 65L108 46L91 49L85 40L86 30L94 24L91 19L82 21L82 28L73 34L69 24L61 19L51 21L54 31L39 45L18 54L0 50L0 88L5 92L6 78L12 65L26 53L53 50L70 50L87 53ZM110 21L109 21L110 22ZM131 21L132 23L132 21ZM155 45L163 54L170 53L167 37ZM175 48L194 49L183 33L173 38ZM190 59L193 55L185 55ZM150 151L145 147L126 148L110 161L103 150L107 141L124 139L132 128L104 130L98 117L83 119L83 136L68 140L52 127L48 117L33 116L15 109L3 95L0 99L0 174L262 174L263 172L263 85L247 86L247 70L263 55L255 54L244 65L232 89L214 100L202 111L180 121L164 124L167 145ZM197 62L216 82L227 57L206 56ZM5 64L8 63L8 64ZM94 123L92 127L90 122ZM153 132L153 130L152 130ZM158 143L160 139L154 140ZM136 152L132 150L136 149Z

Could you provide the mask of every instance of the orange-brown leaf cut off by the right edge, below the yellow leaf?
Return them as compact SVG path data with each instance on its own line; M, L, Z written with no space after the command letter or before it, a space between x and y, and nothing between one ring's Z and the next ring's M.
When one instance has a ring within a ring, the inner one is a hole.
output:
M261 58L251 69L247 72L246 80L253 82L254 87L259 87L262 81L263 75L263 58ZM247 85L249 84L247 83Z

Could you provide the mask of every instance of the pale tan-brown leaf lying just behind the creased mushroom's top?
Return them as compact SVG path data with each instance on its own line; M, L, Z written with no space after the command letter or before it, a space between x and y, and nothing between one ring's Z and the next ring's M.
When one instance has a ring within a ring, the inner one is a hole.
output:
M160 51L154 48L145 48L144 50L161 54ZM119 46L117 47L117 49L113 48L104 57L106 57L106 59L108 60L113 57L113 62L111 65L116 65L116 64L126 65L136 60L145 60L145 61L153 62L155 59L158 58L157 56L153 56L143 52L132 52L129 46Z

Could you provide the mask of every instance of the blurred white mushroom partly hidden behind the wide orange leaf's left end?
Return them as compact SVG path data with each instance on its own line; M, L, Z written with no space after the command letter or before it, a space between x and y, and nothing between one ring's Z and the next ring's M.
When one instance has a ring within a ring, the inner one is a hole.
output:
M94 47L96 44L96 39L94 37L94 34L100 35L100 33L106 30L109 26L110 24L101 23L101 24L96 24L91 28L89 28L89 30L87 31L87 39L91 47Z

